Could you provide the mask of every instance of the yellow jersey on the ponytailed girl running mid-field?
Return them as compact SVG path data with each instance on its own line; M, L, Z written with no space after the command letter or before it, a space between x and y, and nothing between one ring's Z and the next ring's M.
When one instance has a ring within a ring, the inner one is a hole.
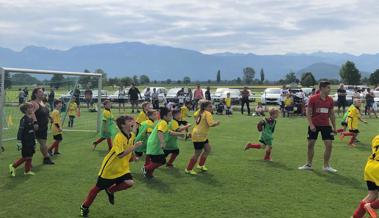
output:
M192 129L193 142L205 142L208 139L209 127L213 125L213 116L209 111L204 111L200 114L195 112L195 126Z

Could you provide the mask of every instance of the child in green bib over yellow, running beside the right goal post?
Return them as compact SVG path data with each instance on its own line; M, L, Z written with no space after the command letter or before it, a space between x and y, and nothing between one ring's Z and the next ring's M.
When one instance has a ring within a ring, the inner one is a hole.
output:
M103 123L101 126L101 137L92 143L93 150L95 150L96 146L104 141L107 140L108 143L108 150L110 151L112 148L112 137L115 135L116 127L114 124L114 117L111 111L112 104L109 100L105 100L104 103L104 111L103 111Z

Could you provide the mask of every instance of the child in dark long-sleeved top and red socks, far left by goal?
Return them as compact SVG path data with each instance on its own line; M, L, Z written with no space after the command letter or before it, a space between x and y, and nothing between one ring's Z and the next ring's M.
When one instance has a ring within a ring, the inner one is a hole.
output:
M9 172L11 176L16 176L16 168L25 162L24 175L35 175L32 172L32 157L35 152L36 137L35 128L33 124L32 115L34 113L34 107L32 103L24 103L20 106L20 110L25 114L20 120L20 126L18 128L17 140L22 145L21 155L22 157L16 160L13 164L9 165Z

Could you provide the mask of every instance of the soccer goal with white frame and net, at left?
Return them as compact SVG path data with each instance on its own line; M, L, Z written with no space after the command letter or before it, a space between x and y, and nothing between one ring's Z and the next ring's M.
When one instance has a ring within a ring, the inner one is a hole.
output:
M50 112L54 109L54 99L62 100L61 126L64 132L100 131L101 102L106 98L102 90L102 74L0 67L0 76L0 146L17 139L19 121L23 116L19 105L30 101L33 89L37 87L43 88L44 102ZM76 110L73 102L77 105ZM73 116L71 127L68 124Z

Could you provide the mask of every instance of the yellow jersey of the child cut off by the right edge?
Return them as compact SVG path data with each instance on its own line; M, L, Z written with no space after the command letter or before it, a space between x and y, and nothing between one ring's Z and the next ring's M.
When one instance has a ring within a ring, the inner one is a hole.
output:
M371 149L372 154L366 163L364 180L374 182L379 186L379 135L372 140Z

